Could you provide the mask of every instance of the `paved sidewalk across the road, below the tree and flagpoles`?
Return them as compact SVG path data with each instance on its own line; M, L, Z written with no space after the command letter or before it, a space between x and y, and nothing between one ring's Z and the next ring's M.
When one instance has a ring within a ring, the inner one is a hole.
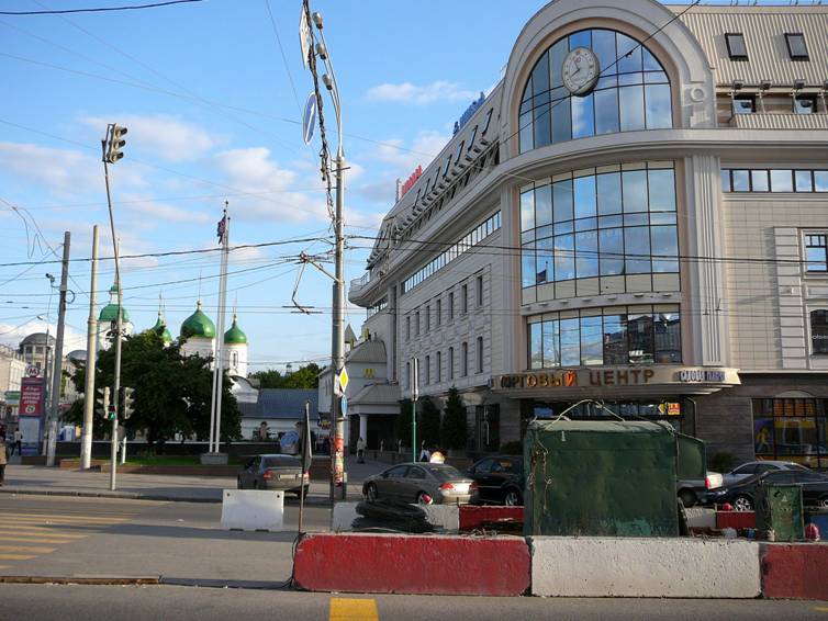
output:
M356 458L349 458L346 461L348 499L359 499L362 494L362 481L385 467L388 464L369 460L366 460L365 464L358 464ZM236 487L235 477L119 473L116 490L110 492L109 481L109 473L10 464L5 468L5 484L0 487L0 494L221 503L222 490ZM311 483L306 497L309 505L327 505L328 498L327 483Z

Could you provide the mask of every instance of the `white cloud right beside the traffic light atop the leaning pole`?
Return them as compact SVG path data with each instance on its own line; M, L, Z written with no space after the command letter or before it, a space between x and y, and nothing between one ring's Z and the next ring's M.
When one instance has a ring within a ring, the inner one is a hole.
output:
M112 117L127 127L128 147L152 153L167 161L197 159L220 143L198 125L178 116L119 114ZM81 122L96 128L105 127L108 123L105 118L94 116L83 117Z

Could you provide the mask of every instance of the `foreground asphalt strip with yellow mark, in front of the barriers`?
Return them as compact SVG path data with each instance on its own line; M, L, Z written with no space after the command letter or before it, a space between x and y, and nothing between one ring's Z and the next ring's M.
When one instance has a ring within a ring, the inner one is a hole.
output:
M557 621L670 619L671 621L826 620L828 605L814 601L697 599L544 599L538 597L347 596L296 591L174 586L98 587L0 585L0 619L85 621L199 621L306 619L372 621L444 619Z

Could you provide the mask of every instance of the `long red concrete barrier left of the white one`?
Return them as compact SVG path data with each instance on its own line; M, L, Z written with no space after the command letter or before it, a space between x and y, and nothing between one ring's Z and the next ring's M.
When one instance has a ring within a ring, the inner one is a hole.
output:
M313 591L517 596L529 587L519 537L307 534L293 577Z

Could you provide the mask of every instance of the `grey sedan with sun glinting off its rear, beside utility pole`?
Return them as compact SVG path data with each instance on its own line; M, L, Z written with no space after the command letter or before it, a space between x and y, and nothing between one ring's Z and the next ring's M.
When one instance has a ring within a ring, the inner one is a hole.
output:
M478 484L447 464L405 463L366 478L362 495L419 505L454 505L477 499Z

